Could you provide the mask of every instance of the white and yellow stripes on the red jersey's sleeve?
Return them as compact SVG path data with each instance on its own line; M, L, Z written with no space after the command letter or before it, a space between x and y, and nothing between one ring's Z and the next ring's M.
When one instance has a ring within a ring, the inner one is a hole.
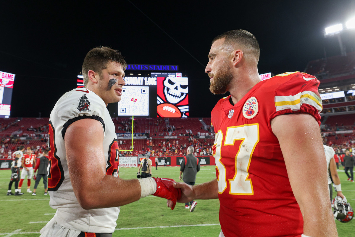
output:
M322 111L322 99L312 91L302 91L293 96L275 96L276 111L284 109L298 111L302 104L315 107L319 113Z

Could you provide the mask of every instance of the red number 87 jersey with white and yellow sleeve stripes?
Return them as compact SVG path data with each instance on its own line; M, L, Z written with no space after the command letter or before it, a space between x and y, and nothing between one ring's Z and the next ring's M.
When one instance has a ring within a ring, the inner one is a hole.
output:
M319 83L314 76L286 72L259 82L235 105L228 96L213 108L219 219L226 237L303 233L271 120L286 113L308 113L320 123Z

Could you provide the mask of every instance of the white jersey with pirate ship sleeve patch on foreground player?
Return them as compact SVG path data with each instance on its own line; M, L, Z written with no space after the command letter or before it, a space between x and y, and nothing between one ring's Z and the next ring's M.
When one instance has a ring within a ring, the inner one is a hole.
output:
M53 218L61 226L76 231L113 233L120 208L84 210L76 199L69 177L65 132L70 124L86 118L102 124L106 174L118 177L117 136L104 101L86 88L73 89L58 100L49 118L49 205L57 209ZM84 157L85 151L82 152ZM83 162L86 162L84 158Z

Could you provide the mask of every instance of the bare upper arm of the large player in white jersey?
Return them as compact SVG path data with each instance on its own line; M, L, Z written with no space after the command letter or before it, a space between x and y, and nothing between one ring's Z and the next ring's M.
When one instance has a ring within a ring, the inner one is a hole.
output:
M65 133L66 158L72 186L77 194L94 187L105 175L102 125L94 119L72 123Z

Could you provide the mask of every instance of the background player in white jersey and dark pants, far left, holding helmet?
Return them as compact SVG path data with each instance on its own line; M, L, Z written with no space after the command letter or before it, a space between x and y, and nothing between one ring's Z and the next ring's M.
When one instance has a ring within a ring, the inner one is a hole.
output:
M18 147L18 150L12 153L12 162L11 162L11 180L9 183L9 189L7 190L6 195L14 195L11 192L12 183L15 182L15 196L22 195L23 193L18 190L18 180L19 180L19 169L21 167L21 161L23 156L24 146Z

